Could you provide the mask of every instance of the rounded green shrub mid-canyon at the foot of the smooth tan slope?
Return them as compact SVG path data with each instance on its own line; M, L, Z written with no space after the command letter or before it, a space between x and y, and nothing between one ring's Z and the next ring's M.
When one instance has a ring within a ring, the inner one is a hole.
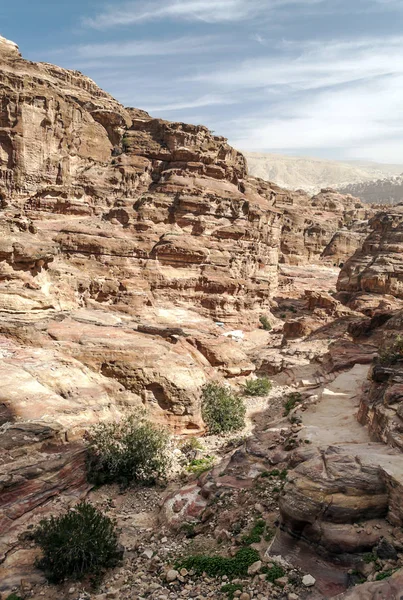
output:
M245 405L226 387L209 383L203 388L202 416L211 434L239 431L245 426Z

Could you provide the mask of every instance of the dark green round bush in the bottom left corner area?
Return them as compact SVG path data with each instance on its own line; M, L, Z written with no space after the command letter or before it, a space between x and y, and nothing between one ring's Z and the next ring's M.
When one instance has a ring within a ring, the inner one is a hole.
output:
M41 521L33 539L42 550L37 566L51 583L98 578L122 558L114 522L87 502Z

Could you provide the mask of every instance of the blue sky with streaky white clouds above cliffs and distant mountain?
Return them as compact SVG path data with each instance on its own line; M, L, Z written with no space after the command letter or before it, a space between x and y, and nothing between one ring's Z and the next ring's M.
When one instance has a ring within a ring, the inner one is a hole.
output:
M0 35L240 150L403 163L403 0L2 0Z

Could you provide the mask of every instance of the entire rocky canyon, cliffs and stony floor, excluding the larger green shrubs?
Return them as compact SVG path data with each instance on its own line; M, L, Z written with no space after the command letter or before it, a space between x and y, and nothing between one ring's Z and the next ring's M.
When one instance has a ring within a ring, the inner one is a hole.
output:
M0 122L0 593L400 600L402 207L249 177L1 37ZM203 386L257 376L245 430L206 436ZM173 434L168 485L91 489L86 431L136 407ZM49 586L29 532L86 496L123 563ZM180 562L244 548L240 581Z

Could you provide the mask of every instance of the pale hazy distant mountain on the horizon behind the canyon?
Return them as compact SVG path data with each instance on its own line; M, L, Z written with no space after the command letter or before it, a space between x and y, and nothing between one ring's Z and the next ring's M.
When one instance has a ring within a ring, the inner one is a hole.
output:
M303 189L315 194L322 188L332 187L356 195L364 202L375 203L403 199L403 165L339 162L257 152L244 154L250 175L289 189Z

